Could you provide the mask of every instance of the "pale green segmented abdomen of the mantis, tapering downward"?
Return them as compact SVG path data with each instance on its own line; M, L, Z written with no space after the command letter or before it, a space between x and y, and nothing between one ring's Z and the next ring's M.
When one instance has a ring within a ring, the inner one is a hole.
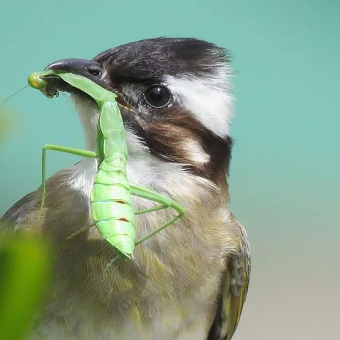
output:
M131 258L135 248L135 214L125 164L123 153L103 159L91 191L91 208L101 236L121 254Z

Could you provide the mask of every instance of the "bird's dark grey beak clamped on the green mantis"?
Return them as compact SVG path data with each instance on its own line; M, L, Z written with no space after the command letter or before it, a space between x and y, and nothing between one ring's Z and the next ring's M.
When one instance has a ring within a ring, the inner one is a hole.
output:
M51 74L48 74L49 71ZM44 72L42 72L42 74L38 74L38 77L47 84L47 86L45 86L47 88L47 91L45 91L47 96L54 96L57 94L57 91L81 94L79 89L74 88L72 85L62 80L62 78L58 77L58 74L60 73L79 74L91 81L94 81L94 83L104 89L108 89L108 84L105 81L106 72L103 67L101 67L101 64L98 64L98 62L94 62L93 60L63 59L47 65L47 67L45 67L45 74ZM28 82L30 83L30 79ZM30 85L38 87L31 83Z

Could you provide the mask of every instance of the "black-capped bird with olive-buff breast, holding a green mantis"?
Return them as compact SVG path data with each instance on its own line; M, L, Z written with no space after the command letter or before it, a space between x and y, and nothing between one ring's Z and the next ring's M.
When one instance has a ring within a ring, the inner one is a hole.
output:
M229 210L229 52L196 38L149 38L45 69L80 74L118 95L130 183L176 200L186 213L136 246L132 259L108 266L115 251L96 226L69 238L91 222L98 159L81 159L47 180L41 222L32 223L40 188L18 200L2 220L13 231L42 234L54 254L54 293L30 339L232 339L249 286L250 251L246 230ZM86 149L96 151L98 106L54 81L74 101ZM132 203L149 207L143 198ZM136 216L136 238L170 217L167 210Z

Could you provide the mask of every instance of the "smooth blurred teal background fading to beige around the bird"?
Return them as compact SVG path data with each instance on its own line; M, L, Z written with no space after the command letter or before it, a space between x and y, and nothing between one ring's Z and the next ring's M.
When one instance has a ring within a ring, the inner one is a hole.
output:
M196 37L232 52L232 210L249 232L249 297L234 339L336 339L339 328L339 1L4 1L0 99L65 57ZM67 96L1 108L0 214L40 183L45 142L83 147ZM77 157L50 154L48 174Z

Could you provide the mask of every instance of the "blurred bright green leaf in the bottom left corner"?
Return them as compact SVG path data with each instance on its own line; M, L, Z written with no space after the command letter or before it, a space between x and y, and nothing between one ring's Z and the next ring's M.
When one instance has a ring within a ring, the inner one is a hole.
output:
M0 225L2 231L9 228L5 222ZM0 235L1 340L28 335L47 293L50 261L50 250L38 235Z

